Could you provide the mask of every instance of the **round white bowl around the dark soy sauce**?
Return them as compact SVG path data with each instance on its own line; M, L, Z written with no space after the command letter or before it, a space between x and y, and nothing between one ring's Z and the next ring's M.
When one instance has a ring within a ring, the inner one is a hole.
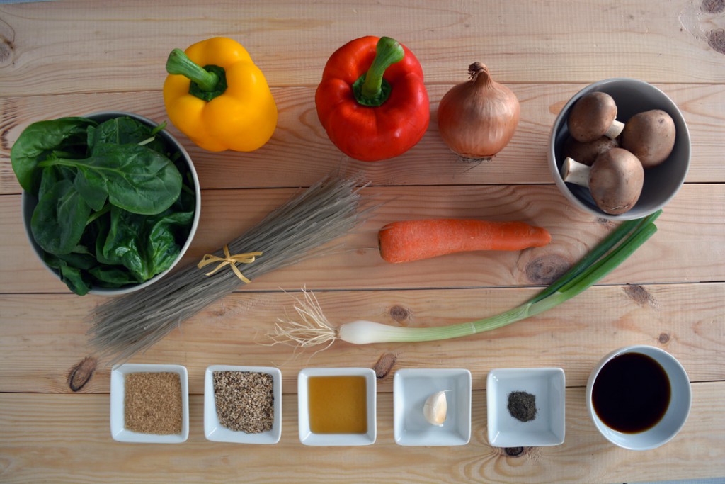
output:
M670 380L671 396L664 416L653 427L643 432L619 432L608 427L602 422L594 406L592 406L592 389L602 367L612 358L626 353L640 353L650 356L662 366ZM684 371L682 364L674 356L655 346L632 345L614 350L599 361L587 381L587 412L597 430L611 443L633 451L647 451L657 448L674 438L687 421L691 404L692 389L689 385L687 372Z

